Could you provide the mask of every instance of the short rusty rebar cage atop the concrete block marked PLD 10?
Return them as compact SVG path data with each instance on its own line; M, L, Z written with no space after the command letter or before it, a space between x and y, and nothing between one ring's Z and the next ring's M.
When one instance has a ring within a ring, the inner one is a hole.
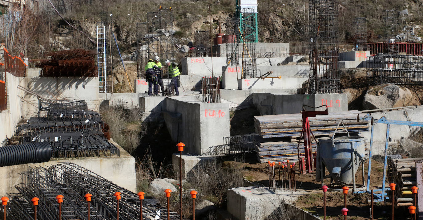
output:
M203 102L220 103L220 81L219 77L203 77L201 80Z

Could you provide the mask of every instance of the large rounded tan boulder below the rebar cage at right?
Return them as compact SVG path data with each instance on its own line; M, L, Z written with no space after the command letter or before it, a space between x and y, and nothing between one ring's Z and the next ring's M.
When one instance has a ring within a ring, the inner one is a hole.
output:
M383 84L370 88L363 99L366 110L385 109L392 107L409 106L412 102L412 93L405 87L393 84Z

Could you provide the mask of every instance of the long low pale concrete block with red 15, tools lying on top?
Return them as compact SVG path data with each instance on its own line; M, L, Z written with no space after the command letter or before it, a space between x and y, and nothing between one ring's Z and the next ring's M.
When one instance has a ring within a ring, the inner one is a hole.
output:
M282 77L278 78L248 78L238 80L238 89L285 89L285 88L301 88L302 83L308 80L303 77Z

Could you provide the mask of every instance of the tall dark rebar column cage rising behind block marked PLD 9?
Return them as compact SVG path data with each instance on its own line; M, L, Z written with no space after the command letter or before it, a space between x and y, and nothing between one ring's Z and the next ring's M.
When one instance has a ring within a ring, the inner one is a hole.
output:
M310 80L308 92L338 93L338 0L309 1Z

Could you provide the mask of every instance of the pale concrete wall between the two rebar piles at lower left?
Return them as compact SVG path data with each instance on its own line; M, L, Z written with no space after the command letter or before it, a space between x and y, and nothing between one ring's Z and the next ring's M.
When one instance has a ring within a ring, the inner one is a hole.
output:
M118 146L117 144L115 145ZM6 193L18 192L15 185L21 182L19 173L27 171L28 168L35 166L44 167L56 165L58 162L73 162L99 174L105 179L112 181L114 184L131 190L132 192L136 192L137 181L135 178L135 159L120 146L118 146L118 148L120 148L121 157L52 159L49 162L44 163L30 163L0 167L0 193L1 195L6 195Z

